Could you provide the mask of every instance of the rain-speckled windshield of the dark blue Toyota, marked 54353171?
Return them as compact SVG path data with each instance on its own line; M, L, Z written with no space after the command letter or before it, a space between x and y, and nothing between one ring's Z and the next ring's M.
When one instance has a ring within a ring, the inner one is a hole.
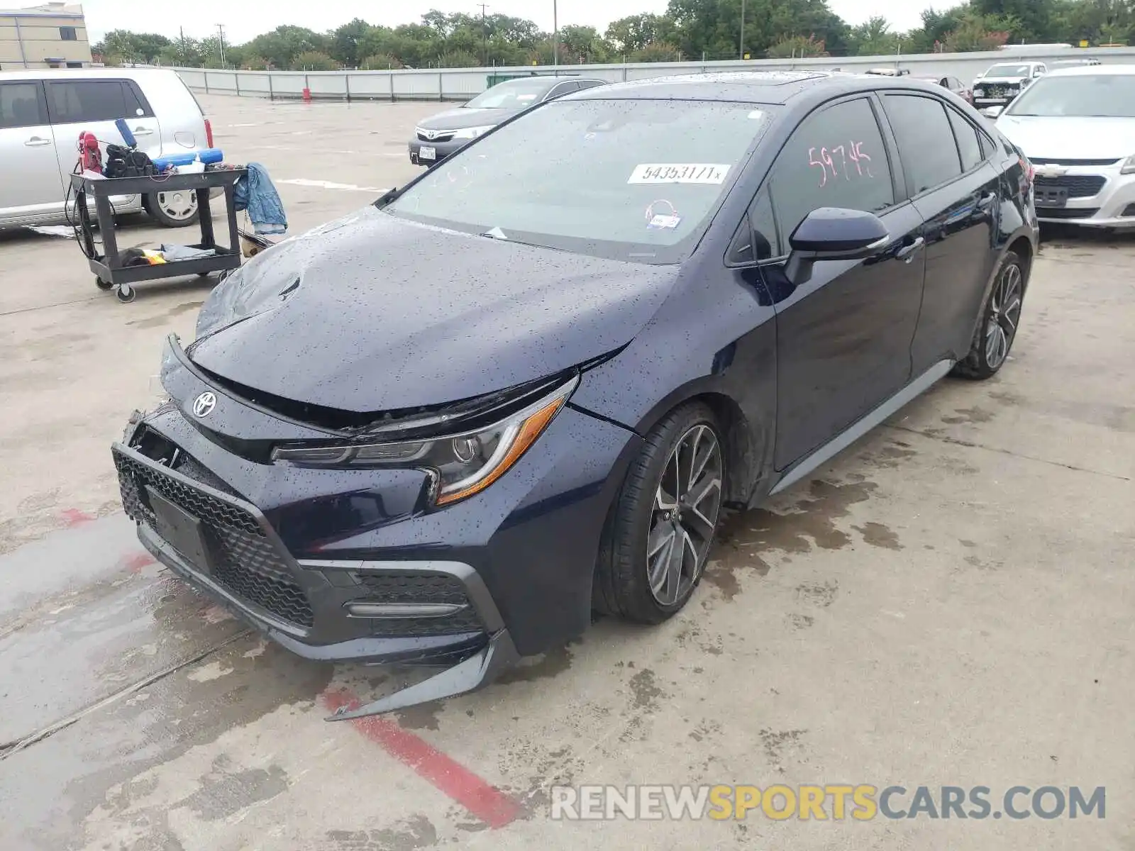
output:
M679 262L767 116L751 103L553 101L444 160L385 209L580 254Z

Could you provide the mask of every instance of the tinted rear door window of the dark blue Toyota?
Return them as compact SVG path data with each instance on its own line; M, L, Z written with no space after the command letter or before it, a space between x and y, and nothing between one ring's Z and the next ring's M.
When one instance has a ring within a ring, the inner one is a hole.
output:
M940 100L889 94L884 102L902 162L913 182L913 195L949 183L961 174L958 148L951 144L950 119Z

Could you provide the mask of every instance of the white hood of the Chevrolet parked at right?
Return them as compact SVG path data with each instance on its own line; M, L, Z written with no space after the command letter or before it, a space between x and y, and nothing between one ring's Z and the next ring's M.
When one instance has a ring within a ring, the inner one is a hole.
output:
M1121 160L1135 154L1135 118L1002 115L997 128L1039 160Z

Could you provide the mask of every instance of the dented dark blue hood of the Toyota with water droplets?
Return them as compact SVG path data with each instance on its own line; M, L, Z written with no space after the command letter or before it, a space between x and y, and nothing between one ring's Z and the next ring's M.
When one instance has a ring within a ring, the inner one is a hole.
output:
M373 207L287 239L219 285L192 360L351 412L456 402L627 344L674 267L455 233Z

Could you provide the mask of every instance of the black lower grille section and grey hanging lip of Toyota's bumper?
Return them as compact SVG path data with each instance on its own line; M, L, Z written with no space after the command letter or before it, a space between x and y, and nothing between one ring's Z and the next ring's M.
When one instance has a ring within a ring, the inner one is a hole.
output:
M268 638L317 662L452 665L368 706L340 708L331 719L473 691L520 658L493 597L470 565L296 561L251 503L123 444L111 450L123 504L138 523L142 545ZM319 639L312 599L321 608L340 608L348 618L369 622L371 631L394 634L311 643Z

